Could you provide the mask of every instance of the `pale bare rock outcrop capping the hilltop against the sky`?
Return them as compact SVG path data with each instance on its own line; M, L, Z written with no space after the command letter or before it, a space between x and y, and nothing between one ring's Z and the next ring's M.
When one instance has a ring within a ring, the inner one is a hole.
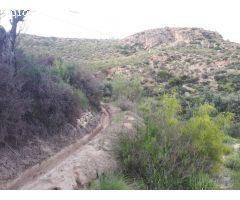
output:
M198 43L208 47L211 42L223 42L220 34L201 28L160 28L143 31L122 40L126 45L140 45L144 49L155 46L175 46L181 43Z

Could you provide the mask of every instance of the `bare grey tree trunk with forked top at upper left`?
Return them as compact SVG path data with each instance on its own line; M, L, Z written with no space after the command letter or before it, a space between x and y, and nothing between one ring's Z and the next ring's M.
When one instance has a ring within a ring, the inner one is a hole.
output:
M29 10L12 10L11 30L6 32L0 25L0 63L15 66L15 41L17 36L17 25L23 22Z

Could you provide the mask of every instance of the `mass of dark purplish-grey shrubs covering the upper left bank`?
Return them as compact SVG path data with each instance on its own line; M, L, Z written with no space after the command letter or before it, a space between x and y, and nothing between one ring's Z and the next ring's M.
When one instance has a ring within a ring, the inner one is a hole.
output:
M17 62L14 78L11 67L0 71L1 145L15 146L31 134L55 134L67 123L76 124L89 107L99 108L102 86L87 71L58 60L42 65L23 54Z

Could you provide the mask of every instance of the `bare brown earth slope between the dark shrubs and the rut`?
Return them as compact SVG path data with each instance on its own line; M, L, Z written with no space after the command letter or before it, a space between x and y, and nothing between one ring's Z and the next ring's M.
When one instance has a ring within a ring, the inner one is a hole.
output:
M84 113L83 113L84 114ZM16 179L30 167L41 163L43 160L55 155L64 147L76 142L93 130L99 120L100 114L94 113L89 119L86 127L74 127L68 124L63 131L57 135L29 138L24 146L0 147L0 189ZM80 117L81 119L81 117Z

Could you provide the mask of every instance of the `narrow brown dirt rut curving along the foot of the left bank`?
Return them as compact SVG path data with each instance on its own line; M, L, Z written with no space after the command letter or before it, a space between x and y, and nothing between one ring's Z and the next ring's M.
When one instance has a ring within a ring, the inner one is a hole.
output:
M96 135L98 135L98 133L106 129L106 127L109 125L110 119L111 119L111 113L110 113L109 107L103 106L102 112L103 114L102 114L99 125L91 133L87 134L85 137L81 138L76 143L65 147L63 150L61 150L51 158L27 169L17 179L5 184L3 189L25 188L26 185L31 185L31 183L34 183L36 180L39 179L39 177L42 177L45 174L48 174L56 166L59 166L70 155L73 155L76 151L81 150L83 146L89 143ZM43 188L43 189L50 189L50 188Z

